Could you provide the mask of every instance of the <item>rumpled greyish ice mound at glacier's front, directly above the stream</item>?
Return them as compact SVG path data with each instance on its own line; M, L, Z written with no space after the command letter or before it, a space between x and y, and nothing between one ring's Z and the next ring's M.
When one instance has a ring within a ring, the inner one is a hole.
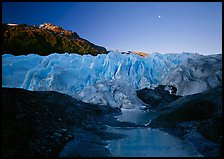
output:
M101 81L86 86L76 98L92 104L109 105L118 108L144 108L138 99L136 90L128 83L120 80Z

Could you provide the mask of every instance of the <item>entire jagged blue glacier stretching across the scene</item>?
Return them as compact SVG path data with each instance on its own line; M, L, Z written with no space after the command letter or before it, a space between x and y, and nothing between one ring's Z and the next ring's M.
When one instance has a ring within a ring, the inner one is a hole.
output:
M143 106L136 90L172 84L178 95L221 85L221 54L151 53L2 55L2 87L58 91L84 102L114 107Z

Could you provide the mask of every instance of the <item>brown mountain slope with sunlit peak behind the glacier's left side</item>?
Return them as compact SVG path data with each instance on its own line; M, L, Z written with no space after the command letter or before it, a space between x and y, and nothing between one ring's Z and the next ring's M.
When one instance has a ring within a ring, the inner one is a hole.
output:
M82 39L77 33L64 30L59 26L45 23L38 26L2 25L3 54L27 55L35 53L49 55L51 53L105 54L104 47L94 45Z

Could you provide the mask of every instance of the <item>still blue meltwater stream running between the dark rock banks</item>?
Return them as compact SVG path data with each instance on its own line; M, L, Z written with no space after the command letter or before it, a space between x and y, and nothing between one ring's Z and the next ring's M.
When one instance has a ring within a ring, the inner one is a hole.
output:
M119 121L147 124L157 116L154 112L122 110ZM109 132L127 137L108 141L114 157L190 157L200 156L194 146L158 129L108 127Z

